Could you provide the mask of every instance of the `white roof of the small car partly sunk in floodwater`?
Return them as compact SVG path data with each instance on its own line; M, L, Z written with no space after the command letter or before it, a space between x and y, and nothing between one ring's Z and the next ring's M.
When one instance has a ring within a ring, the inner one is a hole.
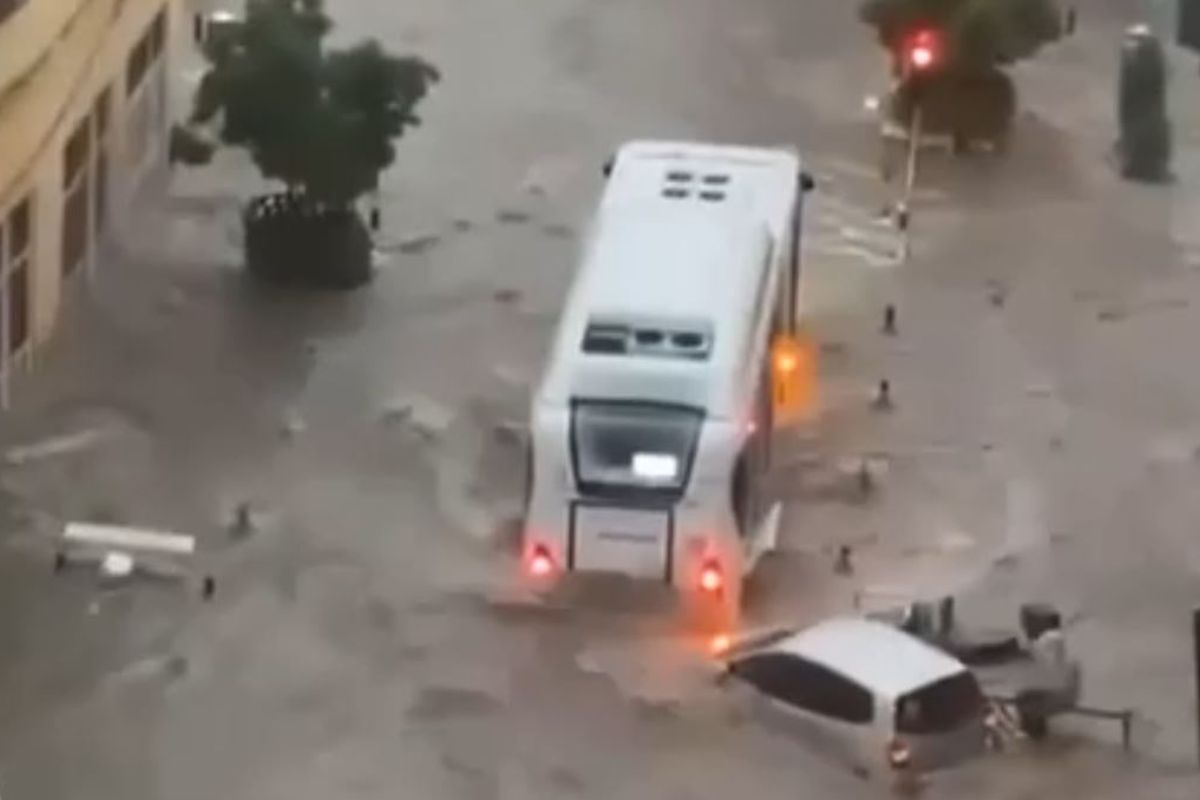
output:
M889 699L966 672L962 662L932 645L858 616L826 620L766 650L814 661Z

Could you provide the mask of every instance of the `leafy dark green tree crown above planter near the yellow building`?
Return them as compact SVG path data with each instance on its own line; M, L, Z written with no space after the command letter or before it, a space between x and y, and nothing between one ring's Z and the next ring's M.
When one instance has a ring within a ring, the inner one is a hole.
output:
M264 176L344 205L377 186L439 74L373 40L326 50L331 28L323 0L247 0L244 19L205 44L190 127L216 126Z

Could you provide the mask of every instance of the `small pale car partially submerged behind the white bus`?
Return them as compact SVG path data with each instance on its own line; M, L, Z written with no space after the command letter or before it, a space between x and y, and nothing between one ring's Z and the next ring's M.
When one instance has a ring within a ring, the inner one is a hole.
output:
M986 746L974 675L883 622L839 618L736 646L726 675L767 724L858 774L940 769Z

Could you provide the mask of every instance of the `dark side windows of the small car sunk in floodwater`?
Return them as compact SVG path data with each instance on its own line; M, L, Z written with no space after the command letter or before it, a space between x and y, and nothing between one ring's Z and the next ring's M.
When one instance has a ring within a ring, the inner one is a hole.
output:
M857 724L875 716L870 692L808 658L761 654L739 662L733 673L763 694L804 711Z

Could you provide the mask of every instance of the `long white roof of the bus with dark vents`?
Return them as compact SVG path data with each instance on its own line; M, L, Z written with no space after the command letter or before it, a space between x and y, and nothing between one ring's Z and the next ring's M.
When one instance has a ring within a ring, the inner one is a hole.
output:
M799 160L787 151L632 143L618 152L566 299L540 398L644 398L730 416ZM685 353L586 351L596 325L694 335ZM703 345L701 345L703 347Z

